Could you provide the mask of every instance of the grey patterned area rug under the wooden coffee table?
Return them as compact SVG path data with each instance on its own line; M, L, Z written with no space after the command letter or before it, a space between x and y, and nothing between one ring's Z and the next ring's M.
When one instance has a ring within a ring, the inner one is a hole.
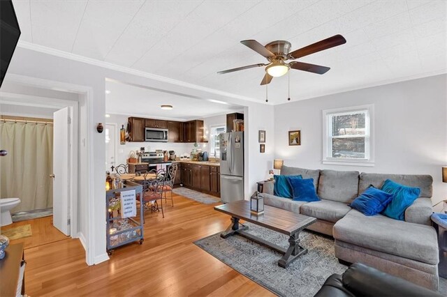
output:
M247 231L281 247L288 247L288 236L255 224ZM281 254L242 236L220 237L220 232L194 242L198 247L221 260L249 279L279 296L314 296L326 278L342 274L347 266L339 264L334 254L334 240L312 231L300 233L301 245L309 252L296 259L288 268L278 266ZM440 279L440 292L447 280Z

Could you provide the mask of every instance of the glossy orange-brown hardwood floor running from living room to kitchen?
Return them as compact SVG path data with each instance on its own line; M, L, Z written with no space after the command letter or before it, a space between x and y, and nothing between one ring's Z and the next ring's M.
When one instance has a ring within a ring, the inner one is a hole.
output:
M29 296L273 296L193 244L226 229L228 215L175 195L175 206L145 215L145 242L85 264L77 239L25 250Z

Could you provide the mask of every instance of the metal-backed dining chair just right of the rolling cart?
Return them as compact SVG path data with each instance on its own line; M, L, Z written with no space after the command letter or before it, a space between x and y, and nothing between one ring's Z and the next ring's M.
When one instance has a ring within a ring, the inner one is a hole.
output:
M163 218L165 217L163 212L163 186L165 184L166 175L164 169L151 170L144 175L144 180L140 182L143 191L142 201L140 201L140 203L143 204L143 212L150 210L151 213L153 213L154 211L161 210L161 215ZM143 220L143 222L145 222L145 220Z

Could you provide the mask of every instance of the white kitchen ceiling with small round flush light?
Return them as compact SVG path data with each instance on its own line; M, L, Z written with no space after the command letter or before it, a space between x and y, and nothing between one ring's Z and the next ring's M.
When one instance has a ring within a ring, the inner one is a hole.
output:
M110 91L105 95L105 111L108 114L188 121L228 114L243 108L120 82L106 81L105 89ZM174 108L164 110L160 108L161 105L173 105Z

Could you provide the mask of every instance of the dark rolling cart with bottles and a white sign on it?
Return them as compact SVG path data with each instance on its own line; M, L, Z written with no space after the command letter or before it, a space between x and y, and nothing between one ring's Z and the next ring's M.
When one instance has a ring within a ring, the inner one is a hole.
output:
M107 216L107 253L112 254L113 249L128 243L138 241L140 245L143 238L143 206L140 203L140 220L135 218L122 218L120 192L135 190L135 198L142 197L142 185L131 181L124 182L124 188L108 190L105 194L105 210Z

